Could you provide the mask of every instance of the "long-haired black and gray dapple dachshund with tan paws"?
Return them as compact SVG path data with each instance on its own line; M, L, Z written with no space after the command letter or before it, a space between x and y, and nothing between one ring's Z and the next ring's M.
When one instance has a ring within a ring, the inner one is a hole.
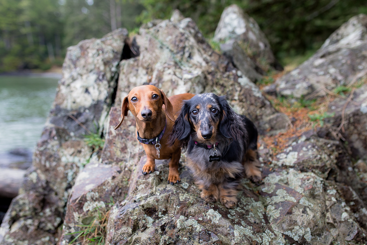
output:
M257 129L230 108L225 96L197 94L183 102L168 144L188 150L188 165L201 198L227 208L237 204L242 177L261 180Z

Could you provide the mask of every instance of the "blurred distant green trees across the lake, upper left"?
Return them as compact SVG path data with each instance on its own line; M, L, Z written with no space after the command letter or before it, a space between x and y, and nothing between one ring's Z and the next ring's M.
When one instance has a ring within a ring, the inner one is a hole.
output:
M0 72L61 65L66 47L116 27L134 29L143 6L132 0L0 0ZM118 14L120 12L120 14ZM61 64L60 64L61 63Z

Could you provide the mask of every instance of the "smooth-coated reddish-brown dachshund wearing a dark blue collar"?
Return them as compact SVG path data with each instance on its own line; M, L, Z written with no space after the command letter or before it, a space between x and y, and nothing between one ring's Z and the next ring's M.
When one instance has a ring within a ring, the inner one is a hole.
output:
M171 158L168 183L178 183L181 180L178 174L181 148L177 146L178 142L169 146L167 141L168 134L181 109L182 101L189 100L193 96L193 94L186 93L167 98L166 94L157 87L143 85L132 89L124 98L121 106L121 121L115 130L120 127L130 110L136 120L137 139L146 154L143 174L154 172L155 159ZM166 113L162 113L162 111Z

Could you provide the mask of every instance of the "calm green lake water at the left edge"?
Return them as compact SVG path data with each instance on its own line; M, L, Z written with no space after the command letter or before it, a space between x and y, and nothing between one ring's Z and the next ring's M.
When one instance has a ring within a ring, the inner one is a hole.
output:
M0 76L0 152L14 148L33 151L54 101L57 82L58 78Z

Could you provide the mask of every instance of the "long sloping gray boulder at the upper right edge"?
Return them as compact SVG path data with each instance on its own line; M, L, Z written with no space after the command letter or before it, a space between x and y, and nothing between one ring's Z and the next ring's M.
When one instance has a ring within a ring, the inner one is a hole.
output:
M282 96L323 96L324 88L356 82L367 73L367 15L359 14L340 26L316 53L276 81Z

